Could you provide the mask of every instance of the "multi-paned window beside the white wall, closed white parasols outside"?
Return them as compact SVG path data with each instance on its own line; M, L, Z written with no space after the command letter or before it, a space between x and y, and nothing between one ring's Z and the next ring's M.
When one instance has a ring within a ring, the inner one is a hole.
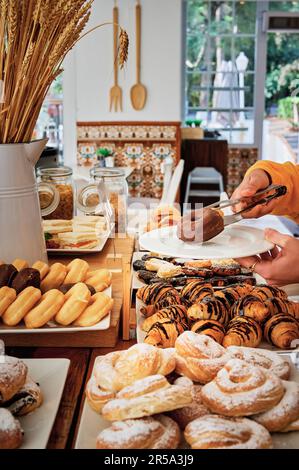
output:
M187 0L186 120L254 143L255 1Z

